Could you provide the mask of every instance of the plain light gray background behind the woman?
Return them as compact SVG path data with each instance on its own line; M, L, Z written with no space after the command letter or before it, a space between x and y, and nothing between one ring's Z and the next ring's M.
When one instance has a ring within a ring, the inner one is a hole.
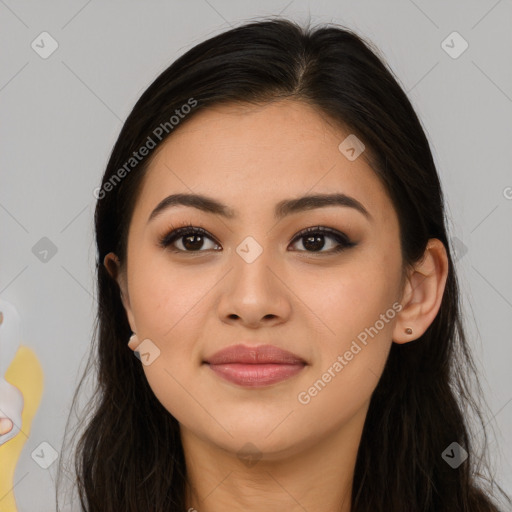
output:
M512 492L510 0L0 0L0 295L17 307L22 343L45 372L15 474L20 512L55 509L57 463L41 469L31 453L44 441L60 450L88 355L96 307L93 190L123 120L186 50L230 25L279 13L334 21L369 38L422 120L459 248L467 327L495 431L492 460ZM59 45L47 59L31 48L43 31ZM469 44L458 58L442 46L453 31ZM57 248L48 261L32 251L43 237Z

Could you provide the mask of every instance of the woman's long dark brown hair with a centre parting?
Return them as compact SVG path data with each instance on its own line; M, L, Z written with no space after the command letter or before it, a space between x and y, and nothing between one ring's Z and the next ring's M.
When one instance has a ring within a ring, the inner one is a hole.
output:
M438 315L418 340L392 344L373 393L352 511L496 512L496 488L511 502L485 463L485 402L464 334L440 181L420 121L371 42L340 25L303 28L279 17L233 28L179 57L142 94L113 148L95 212L96 329L72 409L88 376L95 391L78 415L83 429L75 430L76 475L70 477L82 510L186 510L179 424L127 349L131 330L120 290L103 265L110 251L125 262L128 226L154 149L136 165L127 162L149 138L158 147L212 105L284 98L307 102L364 142L364 155L399 218L404 268L421 258L429 238L441 240L448 253ZM169 120L177 110L182 115L173 127ZM155 132L159 126L166 130ZM483 441L478 453L472 428ZM453 442L468 453L457 468L442 457Z

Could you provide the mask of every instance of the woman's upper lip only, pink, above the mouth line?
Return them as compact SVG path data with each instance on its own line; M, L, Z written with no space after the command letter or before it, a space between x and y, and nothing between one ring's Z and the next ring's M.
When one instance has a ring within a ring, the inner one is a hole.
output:
M231 345L215 352L205 360L209 364L306 364L306 361L292 352L275 345L247 346Z

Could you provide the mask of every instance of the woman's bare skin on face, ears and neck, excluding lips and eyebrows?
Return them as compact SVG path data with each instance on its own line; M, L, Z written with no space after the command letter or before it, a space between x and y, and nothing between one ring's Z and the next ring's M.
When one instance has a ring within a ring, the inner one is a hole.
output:
M198 113L151 162L127 261L105 258L139 340L129 348L149 339L160 350L143 368L180 423L187 505L200 512L348 512L363 424L391 344L421 336L439 310L448 272L443 244L429 241L402 286L396 212L364 158L350 161L338 149L348 135L296 100ZM370 217L332 205L274 219L282 200L335 192L357 199ZM174 206L148 222L176 193L214 198L236 217ZM183 252L162 248L159 238L182 222L209 233L202 247L181 237L173 246ZM297 234L316 226L357 245L333 253L337 241L327 234L312 250L308 235ZM236 251L248 236L263 250L252 263ZM401 311L308 404L300 403L298 394L397 301ZM202 364L243 342L277 345L307 365L288 380L244 388ZM251 451L248 461L242 455Z

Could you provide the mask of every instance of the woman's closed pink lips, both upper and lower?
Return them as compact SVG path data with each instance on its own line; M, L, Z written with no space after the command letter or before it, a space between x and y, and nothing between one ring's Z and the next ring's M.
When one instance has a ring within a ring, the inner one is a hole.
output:
M306 361L274 345L233 345L205 361L219 377L239 386L269 386L299 373Z

